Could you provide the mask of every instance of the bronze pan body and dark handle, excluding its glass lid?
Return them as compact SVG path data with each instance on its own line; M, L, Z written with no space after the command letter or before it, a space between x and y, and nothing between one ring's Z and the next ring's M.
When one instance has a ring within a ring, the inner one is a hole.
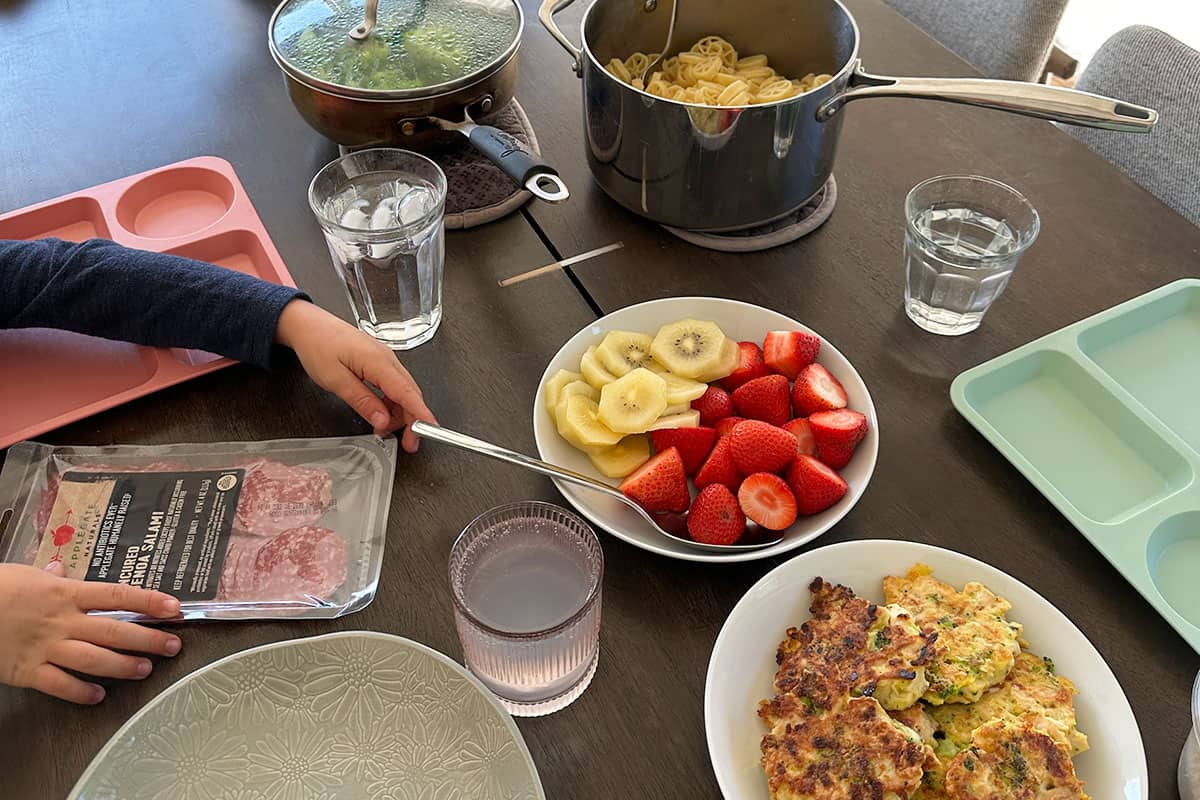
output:
M530 154L511 134L474 119L504 108L517 83L517 50L524 14L511 0L518 20L511 42L502 43L492 61L469 74L420 89L360 89L323 80L281 52L276 22L294 0L283 0L271 16L268 42L283 72L288 96L300 116L323 136L349 148L394 146L436 151L464 136L518 186L547 203L570 193L558 172ZM366 0L364 24L347 29L346 38L362 41L376 24L378 0Z

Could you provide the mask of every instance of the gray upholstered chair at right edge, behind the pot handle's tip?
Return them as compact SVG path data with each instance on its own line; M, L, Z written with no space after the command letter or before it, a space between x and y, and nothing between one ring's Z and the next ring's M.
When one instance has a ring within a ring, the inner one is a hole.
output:
M1200 225L1200 52L1157 28L1126 28L1100 46L1076 88L1158 112L1150 133L1063 128Z

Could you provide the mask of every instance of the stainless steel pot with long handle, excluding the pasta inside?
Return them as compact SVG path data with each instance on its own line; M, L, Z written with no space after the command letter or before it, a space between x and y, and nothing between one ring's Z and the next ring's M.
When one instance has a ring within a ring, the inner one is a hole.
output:
M858 25L839 0L688 0L673 36L677 47L716 32L745 53L768 54L782 74L834 76L775 103L694 106L634 89L604 68L613 58L661 48L670 5L594 0L583 16L580 48L553 20L571 2L544 0L539 19L583 80L592 174L630 211L677 228L736 230L799 209L833 170L838 112L853 100L920 97L1133 132L1148 131L1158 118L1140 106L1038 84L870 74L858 59Z

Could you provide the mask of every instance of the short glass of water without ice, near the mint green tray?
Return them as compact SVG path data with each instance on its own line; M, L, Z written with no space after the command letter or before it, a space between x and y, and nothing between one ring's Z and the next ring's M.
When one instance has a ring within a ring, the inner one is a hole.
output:
M917 184L905 223L905 312L943 336L979 327L1040 227L1020 192L978 175Z

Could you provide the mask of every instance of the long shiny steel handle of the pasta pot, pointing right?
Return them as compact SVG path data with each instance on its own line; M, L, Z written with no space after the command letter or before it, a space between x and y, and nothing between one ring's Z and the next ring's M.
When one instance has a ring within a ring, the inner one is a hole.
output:
M864 97L918 97L994 108L1024 116L1068 122L1109 131L1148 133L1158 112L1111 97L1075 89L1043 86L1020 80L986 78L889 78L856 67L850 89L834 95L817 109L824 122L852 100Z

